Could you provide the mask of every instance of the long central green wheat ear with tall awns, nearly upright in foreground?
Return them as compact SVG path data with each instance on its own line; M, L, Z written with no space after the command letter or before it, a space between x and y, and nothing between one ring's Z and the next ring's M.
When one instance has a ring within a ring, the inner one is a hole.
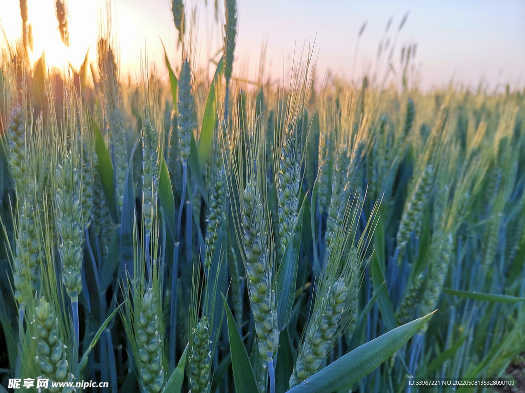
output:
M228 163L228 191L232 209L241 212L240 217L234 217L235 234L239 248L244 251L241 256L259 352L265 361L271 361L279 340L274 288L275 246L273 234L269 231L271 219L266 183L266 140L260 123L262 118L255 116L255 113L255 107L250 108L245 133L236 128L234 140L225 140L228 143L226 151L230 155L225 162ZM247 136L246 177L240 157L244 149L242 146L234 148L243 143L243 135ZM233 187L237 188L236 192Z

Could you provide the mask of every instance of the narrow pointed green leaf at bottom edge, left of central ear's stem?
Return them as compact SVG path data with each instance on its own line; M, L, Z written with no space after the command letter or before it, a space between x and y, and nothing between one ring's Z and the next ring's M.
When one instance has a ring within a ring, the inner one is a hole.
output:
M230 342L230 353L232 354L235 390L242 393L258 393L254 372L251 369L246 347L244 346L243 339L240 337L232 311L229 309L224 296L223 299L226 308L226 319L228 321L228 336Z

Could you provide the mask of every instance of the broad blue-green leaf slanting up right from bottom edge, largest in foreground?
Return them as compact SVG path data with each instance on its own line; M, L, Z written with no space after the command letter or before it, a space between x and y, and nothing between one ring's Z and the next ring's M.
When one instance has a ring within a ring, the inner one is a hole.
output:
M377 339L363 344L352 352L312 375L301 384L289 390L290 393L331 392L350 389L365 375L369 374L400 349L411 337L428 323L433 313L408 322Z

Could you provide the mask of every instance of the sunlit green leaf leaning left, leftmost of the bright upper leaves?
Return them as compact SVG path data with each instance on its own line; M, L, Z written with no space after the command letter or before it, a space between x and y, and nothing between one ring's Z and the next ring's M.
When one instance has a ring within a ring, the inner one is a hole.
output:
M91 125L93 127L93 133L95 133L95 152L97 154L102 191L104 192L111 218L113 222L117 223L117 200L115 199L115 184L113 181L113 163L111 162L111 156L106 147L104 137L94 119L91 119Z

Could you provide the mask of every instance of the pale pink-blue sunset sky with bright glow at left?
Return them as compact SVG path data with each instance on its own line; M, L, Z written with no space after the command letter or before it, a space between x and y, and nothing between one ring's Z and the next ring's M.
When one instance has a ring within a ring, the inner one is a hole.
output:
M20 35L18 1L0 0L0 20L7 39ZM99 21L106 3L101 0L69 0L71 45L60 41L53 0L27 0L33 25L34 60L45 50L48 65L69 61L76 67L89 48L96 60ZM215 21L214 0L188 1L187 13L196 7L199 51L195 61L213 64L222 42L223 17ZM222 8L222 1L219 0ZM180 64L177 30L169 0L112 0L112 31L119 44L121 72L140 74L143 59L158 64L167 80L162 42L170 61ZM398 27L408 13L403 28ZM387 33L387 21L392 24ZM358 33L366 23L363 34ZM260 54L266 45L266 76L282 79L294 54L313 45L316 74L328 70L346 80L376 74L381 84L388 67L387 56L377 60L380 42L396 42L389 81L401 81L401 48L417 45L411 59L409 80L424 89L454 85L477 88L480 81L490 89L523 89L525 86L525 1L523 0L255 0L238 1L238 37L234 73L256 79ZM390 48L388 49L390 51ZM386 52L385 52L386 53ZM386 53L387 54L387 53ZM141 60L142 59L142 60Z

